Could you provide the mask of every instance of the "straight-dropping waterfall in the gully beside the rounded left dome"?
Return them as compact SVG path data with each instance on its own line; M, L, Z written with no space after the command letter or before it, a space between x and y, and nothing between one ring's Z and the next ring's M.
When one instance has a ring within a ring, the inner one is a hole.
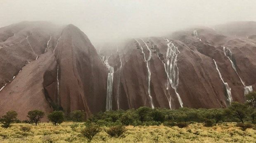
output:
M109 65L109 56L103 56L102 60L104 64L109 69L107 75L107 100L106 100L106 111L112 110L112 89L113 89L113 77L114 77L114 68Z

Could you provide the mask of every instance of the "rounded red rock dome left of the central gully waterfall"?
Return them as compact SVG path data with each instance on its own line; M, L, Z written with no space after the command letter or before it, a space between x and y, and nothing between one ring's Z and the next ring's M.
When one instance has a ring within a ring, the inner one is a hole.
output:
M105 110L107 68L81 30L22 22L0 32L0 115L15 110L25 120L35 109Z

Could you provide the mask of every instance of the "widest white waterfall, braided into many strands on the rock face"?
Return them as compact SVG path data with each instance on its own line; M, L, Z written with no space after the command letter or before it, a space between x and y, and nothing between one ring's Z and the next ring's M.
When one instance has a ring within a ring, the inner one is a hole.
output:
M174 46L174 44L170 42L168 39L165 39L165 40L168 43L167 44L168 48L166 52L167 62L164 64L164 69L168 78L166 90L168 90L169 85L171 85L171 88L174 89L175 94L178 97L180 107L183 107L183 101L180 98L180 95L177 90L178 84L179 84L179 69L177 66L177 58L180 51L178 50L178 47ZM170 98L169 104L171 106L171 98Z

